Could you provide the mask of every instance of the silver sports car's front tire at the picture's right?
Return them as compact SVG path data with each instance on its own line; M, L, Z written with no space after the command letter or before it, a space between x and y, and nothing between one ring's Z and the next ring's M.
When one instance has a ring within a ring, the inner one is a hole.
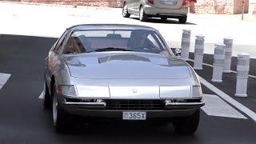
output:
M174 130L177 134L192 135L198 130L200 110L186 118L180 118L173 122Z

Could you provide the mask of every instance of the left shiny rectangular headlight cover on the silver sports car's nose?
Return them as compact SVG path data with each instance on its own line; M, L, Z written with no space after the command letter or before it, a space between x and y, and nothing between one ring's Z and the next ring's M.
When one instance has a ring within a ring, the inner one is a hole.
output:
M110 98L108 86L77 86L79 98Z

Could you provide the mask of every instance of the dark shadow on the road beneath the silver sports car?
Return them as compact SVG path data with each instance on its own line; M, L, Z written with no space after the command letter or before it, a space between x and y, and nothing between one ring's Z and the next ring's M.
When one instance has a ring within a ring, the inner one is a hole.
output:
M50 116L51 111L45 111ZM74 138L72 142L172 142L187 139L191 141L198 140L197 134L191 136L182 136L174 132L172 124L159 124L155 122L122 122L114 120L97 120L85 122L85 117L74 116L75 120L72 127L65 132L56 132L52 126L51 117L48 117L47 126L55 131L55 136L60 141L66 138Z

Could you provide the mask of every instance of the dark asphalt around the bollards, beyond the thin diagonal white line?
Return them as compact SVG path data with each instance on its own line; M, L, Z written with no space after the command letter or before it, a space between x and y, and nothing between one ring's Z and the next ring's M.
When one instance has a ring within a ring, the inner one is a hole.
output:
M190 53L190 59L194 59L194 54ZM214 55L205 54L203 62L207 64L213 64ZM194 66L193 62L189 62L191 66ZM231 70L236 71L237 69L237 57L232 58ZM250 110L256 111L256 78L248 78L247 85L247 98L237 98L234 97L236 90L236 74L223 74L221 83L211 82L213 70L210 66L203 66L203 70L196 70L196 72L202 77L205 78L208 82L212 83L218 89L222 90L226 94L229 94L232 98L241 102L243 105L250 108ZM256 76L256 59L250 58L250 71L249 74Z

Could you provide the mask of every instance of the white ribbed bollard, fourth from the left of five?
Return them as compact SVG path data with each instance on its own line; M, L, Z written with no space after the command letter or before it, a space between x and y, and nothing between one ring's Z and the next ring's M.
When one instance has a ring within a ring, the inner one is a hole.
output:
M223 72L230 73L232 50L233 50L233 39L224 38L224 44L225 44L225 60L224 60Z

